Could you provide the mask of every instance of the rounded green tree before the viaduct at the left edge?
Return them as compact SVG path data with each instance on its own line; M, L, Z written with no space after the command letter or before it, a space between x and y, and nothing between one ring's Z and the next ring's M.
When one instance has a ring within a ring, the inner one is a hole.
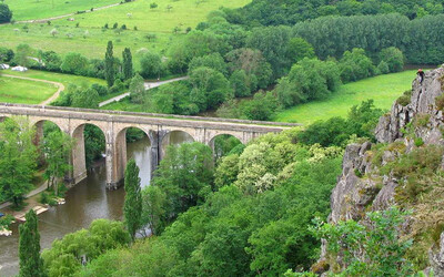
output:
M22 204L37 166L34 130L22 117L0 123L0 198Z

